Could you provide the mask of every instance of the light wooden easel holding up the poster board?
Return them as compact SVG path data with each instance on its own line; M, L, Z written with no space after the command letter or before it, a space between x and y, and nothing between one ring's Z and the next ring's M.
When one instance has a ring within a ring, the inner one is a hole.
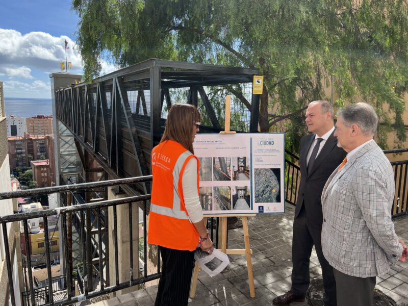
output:
M236 132L230 131L230 117L231 117L231 96L225 97L225 129L220 134L236 134ZM221 228L221 251L229 255L243 255L246 257L246 265L248 269L248 281L249 281L249 294L251 297L255 297L255 286L253 285L253 272L252 272L252 250L249 247L249 231L248 231L248 217L256 216L256 214L236 214L236 215L206 215L204 223L207 224L207 219L210 217L219 217L219 227ZM244 244L245 249L227 249L227 217L241 217L242 228L244 232ZM218 228L217 228L218 230ZM190 289L190 297L195 297L195 290L197 288L199 265L195 262L194 272L192 276L192 283Z

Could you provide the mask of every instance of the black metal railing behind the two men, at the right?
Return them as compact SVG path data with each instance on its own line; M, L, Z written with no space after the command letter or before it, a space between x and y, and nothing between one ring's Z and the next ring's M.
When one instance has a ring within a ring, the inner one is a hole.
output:
M402 154L408 148L384 150L384 154ZM300 184L299 157L285 150L285 200L291 205L296 205L298 188ZM391 209L392 217L408 215L408 160L391 162L394 170L395 197Z

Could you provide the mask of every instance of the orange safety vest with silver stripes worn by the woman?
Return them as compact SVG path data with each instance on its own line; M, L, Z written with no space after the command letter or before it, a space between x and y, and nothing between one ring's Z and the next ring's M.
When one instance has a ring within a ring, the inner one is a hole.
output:
M150 219L147 242L176 250L193 251L198 245L198 232L184 205L182 177L187 162L199 160L180 143L167 140L151 150Z

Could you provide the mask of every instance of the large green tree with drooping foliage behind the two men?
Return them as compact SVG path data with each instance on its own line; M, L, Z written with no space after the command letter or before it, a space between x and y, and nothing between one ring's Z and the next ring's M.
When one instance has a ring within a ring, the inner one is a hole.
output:
M258 68L261 132L287 132L293 148L303 110L321 98L365 100L384 123L380 143L392 124L396 145L405 140L406 0L73 0L72 8L88 80L107 55L120 67L157 57Z

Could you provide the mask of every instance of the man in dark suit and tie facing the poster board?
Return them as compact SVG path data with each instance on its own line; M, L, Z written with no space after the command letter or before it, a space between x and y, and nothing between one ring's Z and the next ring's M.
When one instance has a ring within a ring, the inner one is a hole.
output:
M313 101L306 111L306 124L312 134L300 139L300 185L293 221L292 287L273 299L274 305L303 301L310 284L310 256L315 246L324 285L324 305L336 306L333 269L323 256L323 223L320 196L330 174L346 157L334 137L333 107L328 101Z

